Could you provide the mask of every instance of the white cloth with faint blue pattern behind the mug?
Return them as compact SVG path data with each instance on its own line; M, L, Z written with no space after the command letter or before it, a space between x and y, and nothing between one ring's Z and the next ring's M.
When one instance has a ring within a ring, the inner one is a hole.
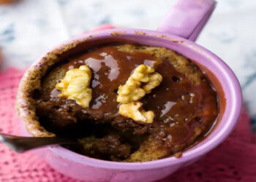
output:
M176 0L177 1L177 0ZM0 6L1 69L25 68L60 41L104 23L154 30L173 0L23 0ZM238 76L256 132L256 1L219 0L198 44Z

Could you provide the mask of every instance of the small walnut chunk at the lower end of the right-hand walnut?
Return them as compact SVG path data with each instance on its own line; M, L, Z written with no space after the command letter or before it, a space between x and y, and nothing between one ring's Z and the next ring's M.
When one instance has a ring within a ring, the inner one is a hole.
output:
M153 111L144 111L142 103L132 101L130 103L122 103L119 106L119 114L127 118L133 119L135 122L152 123L154 119Z

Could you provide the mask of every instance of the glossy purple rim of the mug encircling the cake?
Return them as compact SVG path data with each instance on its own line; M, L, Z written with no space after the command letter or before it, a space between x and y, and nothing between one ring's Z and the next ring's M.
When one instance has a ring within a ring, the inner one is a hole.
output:
M148 39L148 42L154 41L154 43L156 43L157 41L159 41L158 42L159 44L161 44L161 41L170 41L170 43L172 44L173 43L177 45L183 44L183 46L189 47L190 49L197 51L197 53L199 54L204 54L208 58L208 60L214 61L214 63L216 63L217 69L219 69L223 73L223 75L225 75L225 79L228 79L230 81L228 82L230 84L228 86L230 87L231 92L227 93L223 89L223 91L225 92L225 95L229 94L231 95L231 98L232 98L230 100L227 100L227 105L231 106L231 108L229 111L230 116L225 123L225 127L222 127L218 135L215 135L213 138L211 138L209 141L204 143L202 146L199 146L196 149L193 149L194 148L193 146L188 151L184 151L183 156L178 159L176 157L166 157L164 159L158 159L150 162L110 162L110 161L105 161L101 159L86 157L81 154L70 151L68 149L65 149L61 146L49 147L48 149L50 151L52 151L53 153L56 153L59 157L63 157L70 161L78 162L80 164L91 166L91 167L99 167L99 168L105 168L105 169L111 169L111 170L148 170L148 169L166 167L170 165L177 165L184 162L189 162L193 159L197 159L198 157L201 157L204 154L206 154L208 151L211 151L212 149L214 149L216 146L219 145L219 143L222 143L222 141L224 141L228 135L230 135L230 132L232 132L234 127L236 127L238 118L241 113L242 96L241 96L240 84L238 82L238 79L236 78L236 75L227 66L227 64L224 63L223 60L217 57L217 55L214 55L214 53L210 52L209 50L206 50L206 48L201 47L200 45L196 44L193 41L189 41L187 39L172 35L170 33L162 33L159 31L146 31L146 30L132 29L132 28L114 28L109 30L84 33L80 36L75 36L74 38L64 41L61 44L57 45L51 51L58 49L58 47L61 47L63 45L72 44L76 41L83 41L83 40L96 41L99 39L111 39L111 38L127 39L127 40L131 38L132 39L143 38L143 39ZM45 55L46 54L44 54L42 58ZM39 60L42 60L42 58L40 58ZM38 61L36 61L35 63L37 62ZM203 65L203 66L206 66L206 65ZM211 69L210 71L214 74L214 71L212 71ZM217 77L217 79L219 79L218 75L215 75L215 76ZM222 119L220 122L222 122Z

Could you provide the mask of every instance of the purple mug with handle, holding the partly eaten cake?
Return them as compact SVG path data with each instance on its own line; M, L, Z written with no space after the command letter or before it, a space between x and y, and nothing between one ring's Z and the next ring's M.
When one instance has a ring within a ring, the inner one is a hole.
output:
M167 157L151 162L104 161L77 154L61 146L38 149L37 154L60 173L84 181L157 181L195 162L222 143L238 122L242 103L241 87L233 71L217 55L193 42L215 5L214 0L179 0L157 31L115 28L85 33L54 47L33 65L39 65L39 62L42 63L50 55L67 56L70 52L111 42L167 47L179 52L206 73L219 95L217 125L203 141L184 151L181 158ZM69 48L66 49L67 47Z

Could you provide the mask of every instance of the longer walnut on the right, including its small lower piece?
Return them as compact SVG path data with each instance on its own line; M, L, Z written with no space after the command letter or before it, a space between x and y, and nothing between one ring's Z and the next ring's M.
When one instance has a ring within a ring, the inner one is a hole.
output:
M118 87L118 96L116 101L121 103L119 114L133 119L135 122L152 123L154 120L153 111L144 111L142 103L138 100L144 95L150 93L162 82L162 76L154 72L151 66L140 65L124 85ZM141 83L143 87L141 87Z

